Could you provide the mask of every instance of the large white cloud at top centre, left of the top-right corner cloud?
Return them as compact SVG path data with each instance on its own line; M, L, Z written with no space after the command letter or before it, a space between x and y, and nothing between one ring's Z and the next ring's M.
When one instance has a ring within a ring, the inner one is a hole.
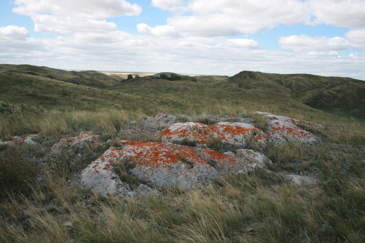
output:
M310 24L307 5L299 0L153 0L161 9L177 11L167 24L187 36L235 36L258 33L279 24ZM191 13L185 15L185 11Z

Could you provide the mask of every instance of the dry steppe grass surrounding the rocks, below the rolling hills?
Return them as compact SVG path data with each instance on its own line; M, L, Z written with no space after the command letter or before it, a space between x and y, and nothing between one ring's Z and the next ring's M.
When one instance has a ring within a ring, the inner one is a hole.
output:
M188 115L205 113L209 119L226 113L247 116L252 110L201 107ZM183 111L174 114L178 113ZM321 131L313 131L322 139L314 146L267 143L262 151L272 160L272 171L315 175L319 184L313 188L294 187L264 170L226 175L206 189L165 188L160 195L129 200L80 187L77 174L118 140L154 141L120 133L138 128L147 115L151 114L114 107L0 116L2 139L42 133L40 147L0 147L3 165L23 168L33 163L27 171L4 167L7 177L20 180L11 183L14 188L2 184L0 242L364 242L364 122L326 114L306 117L295 110L278 113L324 123ZM85 143L81 156L49 154L59 138L81 130L111 141L104 146ZM219 143L216 147L225 149ZM65 222L73 226L68 228Z

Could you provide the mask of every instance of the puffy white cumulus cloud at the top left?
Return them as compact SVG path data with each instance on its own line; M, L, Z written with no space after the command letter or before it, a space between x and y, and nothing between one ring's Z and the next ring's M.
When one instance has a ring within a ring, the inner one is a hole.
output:
M107 17L139 15L142 8L124 0L15 0L14 13L31 16L34 30L45 33L115 31Z

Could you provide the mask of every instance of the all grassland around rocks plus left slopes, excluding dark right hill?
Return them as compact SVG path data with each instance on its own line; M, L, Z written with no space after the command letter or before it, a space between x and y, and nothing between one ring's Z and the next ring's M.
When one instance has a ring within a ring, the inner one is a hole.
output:
M223 78L218 83L215 78L101 78L98 84L98 73L78 81L72 72L57 69L0 67L0 138L41 132L37 146L0 146L0 242L365 241L362 119L312 108L291 91L279 95L280 90L239 87ZM151 140L120 132L138 128L148 115L209 119L249 116L255 110L324 125L312 131L322 139L315 146L268 143L264 151L273 162L270 170L316 176L316 187L295 187L256 171L226 175L206 189L162 188L158 196L123 200L96 195L77 183L77 173L118 140ZM49 153L60 138L81 130L110 141L86 143L80 156Z

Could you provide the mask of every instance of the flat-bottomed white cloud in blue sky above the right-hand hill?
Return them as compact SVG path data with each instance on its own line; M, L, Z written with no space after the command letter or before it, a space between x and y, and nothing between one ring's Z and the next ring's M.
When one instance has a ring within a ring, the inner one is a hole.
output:
M347 51L352 43L343 37L311 37L307 35L292 35L280 37L278 43L284 50L306 52L307 55L337 56L337 51Z

